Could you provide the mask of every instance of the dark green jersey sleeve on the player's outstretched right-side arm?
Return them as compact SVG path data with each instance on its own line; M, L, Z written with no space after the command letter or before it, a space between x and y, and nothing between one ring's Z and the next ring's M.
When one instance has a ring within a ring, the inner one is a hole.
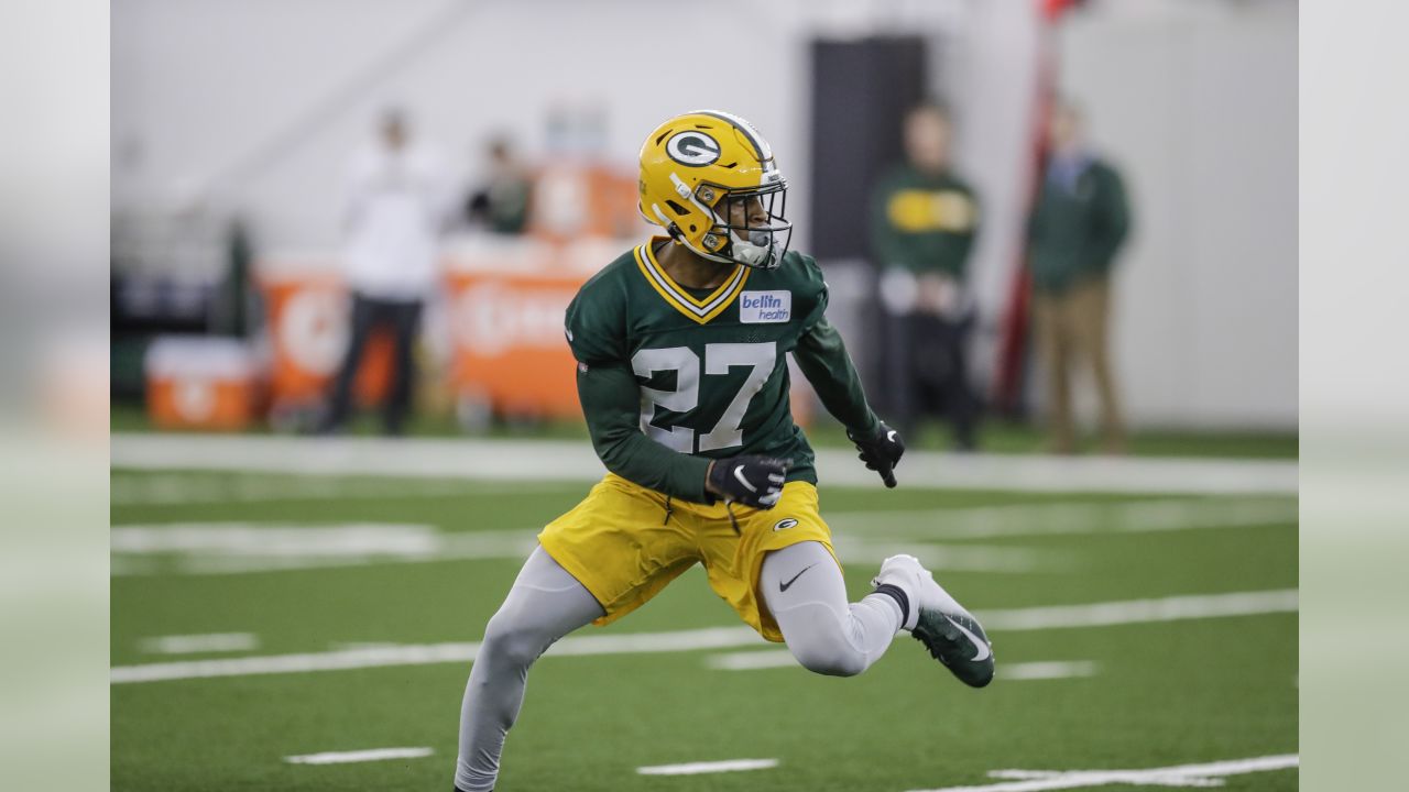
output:
M813 302L803 320L793 359L797 361L797 368L812 383L828 413L858 434L875 434L881 419L867 403L861 376L851 364L841 333L827 321L827 282L823 279L821 268L812 256L803 256L802 264L807 293L813 296Z

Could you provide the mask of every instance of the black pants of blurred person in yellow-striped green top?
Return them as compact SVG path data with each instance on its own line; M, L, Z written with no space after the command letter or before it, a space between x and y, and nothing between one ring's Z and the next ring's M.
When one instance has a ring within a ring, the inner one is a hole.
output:
M886 316L885 403L902 434L920 419L950 419L954 444L975 445L979 402L968 380L968 337L974 314L951 320L931 314Z

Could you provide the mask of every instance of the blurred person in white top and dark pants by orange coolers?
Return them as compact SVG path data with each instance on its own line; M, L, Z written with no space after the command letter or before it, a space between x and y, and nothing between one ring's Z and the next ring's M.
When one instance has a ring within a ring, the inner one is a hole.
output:
M413 145L406 117L387 110L378 144L352 159L344 213L344 265L352 292L351 338L320 431L335 433L352 413L352 386L368 338L392 333L392 383L382 407L386 434L402 434L416 379L411 345L438 276L447 218L444 168Z

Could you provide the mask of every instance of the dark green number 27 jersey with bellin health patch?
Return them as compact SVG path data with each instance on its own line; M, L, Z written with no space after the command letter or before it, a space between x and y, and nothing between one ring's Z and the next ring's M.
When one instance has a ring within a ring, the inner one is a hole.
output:
M788 459L789 481L816 482L812 447L792 420L789 352L828 412L876 431L810 256L738 266L702 293L666 275L652 252L661 242L609 264L568 307L578 392L607 469L696 502L709 500L709 461L740 454Z

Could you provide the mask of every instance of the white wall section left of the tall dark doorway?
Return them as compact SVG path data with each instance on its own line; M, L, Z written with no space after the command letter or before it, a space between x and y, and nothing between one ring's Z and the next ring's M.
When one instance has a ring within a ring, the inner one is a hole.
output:
M386 104L409 109L465 171L500 130L540 151L558 104L600 106L606 151L626 166L664 118L724 107L757 124L796 179L806 172L807 17L793 4L734 3L727 18L757 24L719 35L728 3L117 0L114 199L214 192L248 209L266 242L333 244L344 163ZM368 75L426 28L414 55ZM310 117L349 83L349 101ZM289 130L292 145L241 166ZM127 154L137 147L139 158Z

